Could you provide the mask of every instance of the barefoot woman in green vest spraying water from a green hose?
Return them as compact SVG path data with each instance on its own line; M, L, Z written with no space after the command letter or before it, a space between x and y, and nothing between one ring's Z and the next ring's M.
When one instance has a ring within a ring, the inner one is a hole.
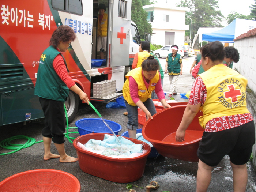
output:
M44 140L44 160L60 158L60 162L76 162L78 158L65 153L64 132L65 110L69 89L79 95L87 104L88 97L68 75L68 68L61 52L66 52L70 43L74 41L74 30L65 25L57 27L50 39L50 46L44 50L39 61L35 95L39 96L44 116L45 127L42 129ZM51 143L54 143L59 155L52 154Z

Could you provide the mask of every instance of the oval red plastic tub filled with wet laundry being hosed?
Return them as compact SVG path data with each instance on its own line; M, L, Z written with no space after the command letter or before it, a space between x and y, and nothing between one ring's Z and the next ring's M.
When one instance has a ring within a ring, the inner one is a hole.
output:
M126 138L135 144L142 144L143 149L147 152L135 158L117 159L86 151L77 146L78 142L85 144L89 139L103 140L104 134L91 133L79 136L74 140L73 146L76 148L79 166L83 172L117 183L137 181L143 176L147 156L151 150L147 143L137 139Z

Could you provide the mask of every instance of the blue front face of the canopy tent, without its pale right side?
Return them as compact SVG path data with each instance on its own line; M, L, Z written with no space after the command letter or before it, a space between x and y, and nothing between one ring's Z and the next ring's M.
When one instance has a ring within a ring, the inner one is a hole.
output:
M220 41L223 43L233 43L235 39L236 19L221 30L202 34L202 41Z

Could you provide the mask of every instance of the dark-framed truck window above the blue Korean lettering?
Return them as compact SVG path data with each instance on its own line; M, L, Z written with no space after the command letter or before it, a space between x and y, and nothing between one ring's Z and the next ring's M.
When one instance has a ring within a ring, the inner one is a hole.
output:
M52 7L72 14L83 14L82 0L52 0Z

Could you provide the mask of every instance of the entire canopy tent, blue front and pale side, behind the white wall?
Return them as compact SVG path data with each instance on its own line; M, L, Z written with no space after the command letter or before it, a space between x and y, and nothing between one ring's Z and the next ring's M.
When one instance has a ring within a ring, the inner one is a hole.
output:
M220 41L223 43L233 43L239 35L256 27L256 21L246 19L235 19L221 30L212 33L203 33L202 41Z

